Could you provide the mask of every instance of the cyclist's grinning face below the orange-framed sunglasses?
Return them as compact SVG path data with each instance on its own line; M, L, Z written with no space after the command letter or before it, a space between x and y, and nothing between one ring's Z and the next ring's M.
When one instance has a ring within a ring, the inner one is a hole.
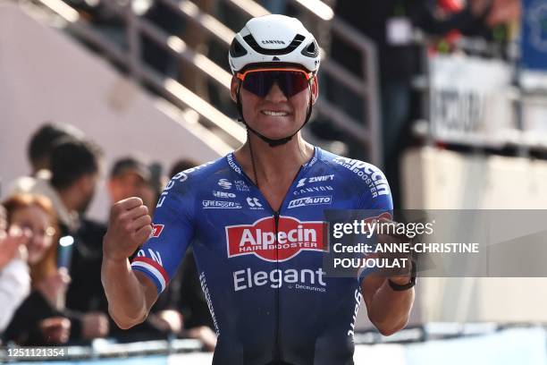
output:
M231 97L237 102L238 79L231 81ZM287 98L277 83L274 83L264 98L258 97L247 89L240 88L240 101L243 118L255 131L276 140L297 132L306 120L310 98L315 104L318 95L316 77L310 81L310 87Z

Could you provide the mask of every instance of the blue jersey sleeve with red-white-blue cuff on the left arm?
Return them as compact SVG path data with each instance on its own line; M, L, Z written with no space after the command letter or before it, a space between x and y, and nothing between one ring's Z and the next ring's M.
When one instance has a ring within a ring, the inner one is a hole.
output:
M158 199L150 238L131 268L145 274L162 293L184 259L194 235L194 194L188 174L173 176Z

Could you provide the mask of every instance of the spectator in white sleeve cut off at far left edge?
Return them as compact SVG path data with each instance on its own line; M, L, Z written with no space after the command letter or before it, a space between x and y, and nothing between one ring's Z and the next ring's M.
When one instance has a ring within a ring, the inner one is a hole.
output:
M26 262L30 233L17 225L12 225L9 233L7 228L5 209L0 205L0 335L30 292Z

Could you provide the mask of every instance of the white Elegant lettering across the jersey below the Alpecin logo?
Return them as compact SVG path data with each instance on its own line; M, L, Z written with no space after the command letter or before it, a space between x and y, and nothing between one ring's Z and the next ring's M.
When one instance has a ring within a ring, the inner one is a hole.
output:
M272 271L255 271L248 267L247 269L233 272L233 290L239 292L253 286L269 285L273 289L281 288L287 285L289 289L312 290L315 292L326 292L326 283L324 282L325 272L319 267L316 270L311 268L288 268L286 270L273 269ZM314 286L312 286L314 285Z

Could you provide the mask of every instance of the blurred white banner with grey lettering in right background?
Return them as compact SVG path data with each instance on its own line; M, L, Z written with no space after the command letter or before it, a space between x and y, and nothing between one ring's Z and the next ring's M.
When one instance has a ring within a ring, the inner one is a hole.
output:
M436 55L431 67L433 138L498 145L516 129L511 70L498 60Z

